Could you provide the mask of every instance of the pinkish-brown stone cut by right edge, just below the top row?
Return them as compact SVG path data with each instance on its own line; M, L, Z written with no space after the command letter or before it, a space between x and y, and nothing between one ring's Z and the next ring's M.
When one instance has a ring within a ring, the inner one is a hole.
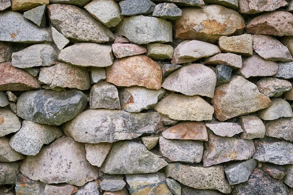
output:
M246 32L280 37L285 35L293 36L292 23L293 14L284 11L273 11L250 20L246 26Z

